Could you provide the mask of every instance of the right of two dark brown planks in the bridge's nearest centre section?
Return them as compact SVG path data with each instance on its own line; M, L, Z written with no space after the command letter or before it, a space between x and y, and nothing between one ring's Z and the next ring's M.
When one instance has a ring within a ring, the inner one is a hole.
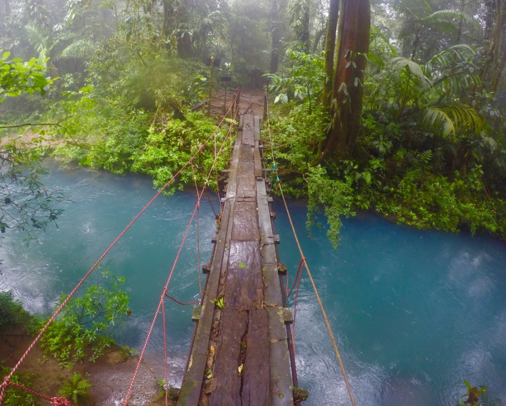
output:
M270 404L269 330L266 310L249 311L246 356L242 370L242 406Z

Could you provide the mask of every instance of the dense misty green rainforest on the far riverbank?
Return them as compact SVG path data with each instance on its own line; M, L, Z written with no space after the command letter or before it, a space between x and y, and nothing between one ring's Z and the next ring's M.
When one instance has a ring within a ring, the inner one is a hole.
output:
M164 184L214 129L189 110L207 97L203 61L214 56L215 76L232 74L232 85L268 80L280 179L309 198L310 216L325 207L334 244L340 215L366 209L416 227L506 236L503 1L3 7L3 131L59 139L54 156ZM370 18L371 28L354 18ZM6 148L23 164L39 162ZM211 149L196 163L200 182ZM187 168L180 185L192 177ZM32 194L42 187L25 184ZM19 200L2 199L3 230L44 228L59 215L48 201L38 216L7 218Z

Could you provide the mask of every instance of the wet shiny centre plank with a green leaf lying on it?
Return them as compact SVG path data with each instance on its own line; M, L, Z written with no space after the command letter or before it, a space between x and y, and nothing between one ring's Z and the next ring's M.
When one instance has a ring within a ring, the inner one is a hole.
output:
M226 309L261 309L264 303L258 241L230 241L225 285Z

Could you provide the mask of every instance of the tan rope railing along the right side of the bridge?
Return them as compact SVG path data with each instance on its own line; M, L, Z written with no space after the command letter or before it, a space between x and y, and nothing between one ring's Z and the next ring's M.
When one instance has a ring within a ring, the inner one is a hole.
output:
M268 128L268 132L269 132L269 140L270 140L270 147L271 147L271 153L272 153L272 162L273 162L272 168L273 168L273 171L277 171L276 161L274 159L274 146L273 146L272 135L271 135L269 99L268 98L266 98L266 103L267 103L267 128ZM351 404L352 404L352 406L356 406L355 397L353 396L353 391L352 391L352 388L351 388L351 385L350 385L350 381L348 380L348 374L346 373L346 369L345 369L343 360L341 358L341 353L339 352L338 344L335 341L334 334L332 333L332 328L330 327L330 322L328 321L328 317L327 317L327 314L326 314L325 309L323 307L323 303L321 301L320 295L318 294L318 290L316 289L316 285L315 285L315 282L314 282L314 279L313 279L313 275L311 274L311 271L309 270L309 266L308 266L306 257L304 256L304 252L302 251L301 244L300 244L299 238L297 236L297 232L295 230L295 227L293 226L293 222L292 222L292 219L291 219L291 216L290 216L290 211L288 209L288 205L286 203L286 199L285 199L284 194L283 194L283 188L281 187L281 181L280 181L279 177L277 176L277 174L276 174L276 183L278 185L279 192L280 192L281 198L283 200L283 204L284 204L284 207L285 207L285 210L286 210L286 215L288 216L288 221L290 223L290 227L291 227L291 230L292 230L292 233L293 233L293 237L295 238L295 241L297 243L297 247L299 249L299 253L301 254L301 264L302 263L304 264L304 267L306 268L306 272L308 273L309 280L311 281L311 286L313 287L313 291L315 293L316 300L318 301L318 305L320 307L320 311L321 311L321 314L323 316L323 320L325 322L325 326L326 326L328 334L330 336L330 340L332 341L332 346L334 348L335 355L336 355L336 357L338 359L339 366L341 368L341 373L343 374L343 379L345 381L346 389L348 390L348 395L350 397ZM300 284L300 279L299 279L299 284ZM294 311L294 315L295 315L295 311ZM295 316L294 316L294 318L295 318ZM293 335L293 340L292 340L293 341L293 348L295 348L295 344L294 344L294 341L295 341L295 339L294 339L295 331L294 331L294 329L295 328L293 328L293 334L292 334Z

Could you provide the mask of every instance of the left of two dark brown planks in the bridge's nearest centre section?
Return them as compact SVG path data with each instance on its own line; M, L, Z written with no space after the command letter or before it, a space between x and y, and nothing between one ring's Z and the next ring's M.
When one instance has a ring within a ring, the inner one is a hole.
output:
M236 406L241 404L241 343L246 333L248 314L246 311L227 309L222 312L220 338L216 348L213 378L216 389L209 398L210 406ZM226 332L226 334L223 334ZM198 402L195 402L196 405Z

